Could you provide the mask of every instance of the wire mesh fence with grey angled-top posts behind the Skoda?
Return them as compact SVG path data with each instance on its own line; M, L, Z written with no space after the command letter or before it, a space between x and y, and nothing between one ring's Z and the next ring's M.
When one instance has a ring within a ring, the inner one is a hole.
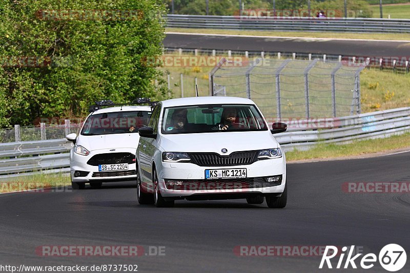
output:
M330 60L222 59L210 73L214 96L250 98L267 118L319 118L360 114L365 66Z

